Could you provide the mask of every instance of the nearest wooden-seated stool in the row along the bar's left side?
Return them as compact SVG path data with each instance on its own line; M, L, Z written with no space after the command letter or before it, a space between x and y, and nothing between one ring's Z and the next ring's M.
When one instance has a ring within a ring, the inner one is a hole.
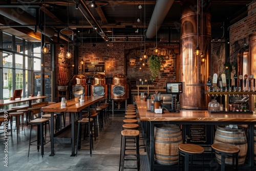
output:
M140 132L138 130L123 130L121 132L121 154L120 154L120 162L119 162L119 170L124 170L124 168L131 168L131 167L125 167L124 161L125 160L133 160L137 161L137 170L140 170L140 152L139 152L139 134ZM131 150L129 146L126 146L126 139L134 139L136 153L125 153L125 151ZM126 164L127 166L127 164Z

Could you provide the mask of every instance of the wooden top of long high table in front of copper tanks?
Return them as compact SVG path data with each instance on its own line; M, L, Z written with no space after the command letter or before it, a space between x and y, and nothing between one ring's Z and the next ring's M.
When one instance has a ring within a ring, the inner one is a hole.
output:
M84 102L79 101L79 97L67 100L67 106L61 107L60 103L54 103L42 108L42 112L79 112L89 105L104 99L104 96L84 96Z

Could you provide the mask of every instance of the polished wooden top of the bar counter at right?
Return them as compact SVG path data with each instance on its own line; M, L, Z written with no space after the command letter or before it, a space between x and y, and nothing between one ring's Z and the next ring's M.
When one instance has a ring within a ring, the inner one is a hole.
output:
M255 114L236 114L236 113L210 113L208 111L180 111L168 112L163 111L163 114L147 112L147 102L140 99L140 96L135 96L138 117L140 121L204 121L204 122L256 122Z

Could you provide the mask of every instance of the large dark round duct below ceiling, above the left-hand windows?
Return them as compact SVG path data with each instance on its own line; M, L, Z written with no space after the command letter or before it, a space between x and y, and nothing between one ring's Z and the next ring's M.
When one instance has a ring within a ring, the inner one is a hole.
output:
M0 14L4 16L4 20L6 21L6 25L12 23L12 20L21 24L21 25L35 25L36 26L36 19L29 13L23 11L20 8L0 8ZM11 20L10 20L11 19ZM28 28L35 30L35 27L28 26ZM37 27L37 32L45 34L48 37L54 36L54 29L52 28L45 28L45 31L42 31L39 27Z

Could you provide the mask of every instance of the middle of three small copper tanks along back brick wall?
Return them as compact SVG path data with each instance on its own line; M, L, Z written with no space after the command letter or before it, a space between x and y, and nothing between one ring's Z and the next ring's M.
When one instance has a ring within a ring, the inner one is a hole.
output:
M108 98L108 86L106 85L106 76L97 74L93 76L93 84L91 85L92 96L105 96Z

